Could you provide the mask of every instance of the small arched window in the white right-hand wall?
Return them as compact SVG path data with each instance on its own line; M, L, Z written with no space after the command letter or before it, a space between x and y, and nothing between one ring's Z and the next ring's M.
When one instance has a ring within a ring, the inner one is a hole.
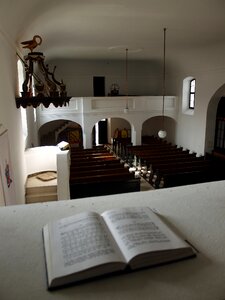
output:
M187 115L194 114L196 80L188 76L183 80L182 112Z

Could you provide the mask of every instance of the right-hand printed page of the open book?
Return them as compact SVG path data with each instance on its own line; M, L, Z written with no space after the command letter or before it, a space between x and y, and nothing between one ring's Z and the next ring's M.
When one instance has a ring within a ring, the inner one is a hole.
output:
M134 256L187 247L148 207L121 208L102 214L129 262Z

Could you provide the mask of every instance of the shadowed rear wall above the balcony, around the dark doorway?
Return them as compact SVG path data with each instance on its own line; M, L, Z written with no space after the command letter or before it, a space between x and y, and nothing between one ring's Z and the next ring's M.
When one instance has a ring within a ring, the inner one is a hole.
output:
M93 76L105 77L106 96L110 92L113 83L119 85L121 95L126 95L125 61L123 59L120 61L50 60L48 63L52 67L57 66L56 78L63 78L69 96L93 96ZM137 96L161 95L162 62L129 61L128 92L129 95Z

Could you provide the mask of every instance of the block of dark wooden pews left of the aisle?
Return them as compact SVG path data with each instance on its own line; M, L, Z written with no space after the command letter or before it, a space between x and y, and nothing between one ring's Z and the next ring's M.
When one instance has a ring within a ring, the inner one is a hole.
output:
M133 191L140 191L140 179L134 178L109 149L71 154L72 199Z

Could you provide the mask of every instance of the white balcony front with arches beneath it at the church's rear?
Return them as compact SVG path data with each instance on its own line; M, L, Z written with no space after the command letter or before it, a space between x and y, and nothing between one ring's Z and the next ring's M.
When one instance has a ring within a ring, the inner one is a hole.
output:
M43 125L57 119L71 120L81 125L83 129L84 148L92 147L92 129L95 124L106 118L126 120L131 126L131 141L134 145L141 144L142 124L145 120L162 114L162 96L133 97L72 97L68 107L39 108L38 123ZM129 111L124 113L128 103ZM177 98L165 97L165 116L177 119ZM174 131L169 125L169 138L174 141ZM156 133L161 124L155 123Z

